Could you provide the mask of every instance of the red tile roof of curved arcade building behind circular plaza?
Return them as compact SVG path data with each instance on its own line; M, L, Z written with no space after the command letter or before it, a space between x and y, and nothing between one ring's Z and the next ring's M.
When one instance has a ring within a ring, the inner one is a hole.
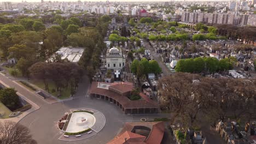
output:
M117 84L115 84L115 85L117 85ZM126 96L120 95L119 93L116 93L116 92L113 92L110 89L98 88L98 82L92 82L91 88L90 88L90 93L106 95L107 97L118 101L125 109L158 108L157 103L155 103L153 100L147 98L146 95L144 95L142 93L140 93L140 95L144 100L130 100Z

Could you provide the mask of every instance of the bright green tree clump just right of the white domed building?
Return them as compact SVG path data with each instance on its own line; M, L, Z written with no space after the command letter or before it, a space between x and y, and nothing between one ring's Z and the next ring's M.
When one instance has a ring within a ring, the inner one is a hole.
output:
M131 71L133 74L136 74L139 81L142 76L148 76L149 73L154 73L156 76L159 75L162 72L162 69L155 60L148 61L148 59L142 58L141 61L138 61L137 59L132 61Z

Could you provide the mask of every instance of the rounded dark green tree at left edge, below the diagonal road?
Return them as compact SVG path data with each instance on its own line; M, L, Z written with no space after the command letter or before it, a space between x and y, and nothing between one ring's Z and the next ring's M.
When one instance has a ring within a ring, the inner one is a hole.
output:
M21 105L16 92L14 88L4 88L0 90L0 101L11 111L18 109Z

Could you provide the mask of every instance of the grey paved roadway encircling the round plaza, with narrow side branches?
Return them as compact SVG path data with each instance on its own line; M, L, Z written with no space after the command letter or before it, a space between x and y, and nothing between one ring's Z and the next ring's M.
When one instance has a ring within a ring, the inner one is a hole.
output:
M62 101L55 104L42 105L39 110L27 115L19 123L30 128L33 139L38 144L60 144L60 143L107 143L112 140L123 128L125 122L140 121L143 118L166 117L168 114L155 115L124 115L118 106L108 101L91 99L86 97L89 87L88 79L79 84L74 100ZM106 117L106 124L103 129L89 139L81 141L60 141L61 131L57 129L57 122L70 109L87 107L98 110Z

